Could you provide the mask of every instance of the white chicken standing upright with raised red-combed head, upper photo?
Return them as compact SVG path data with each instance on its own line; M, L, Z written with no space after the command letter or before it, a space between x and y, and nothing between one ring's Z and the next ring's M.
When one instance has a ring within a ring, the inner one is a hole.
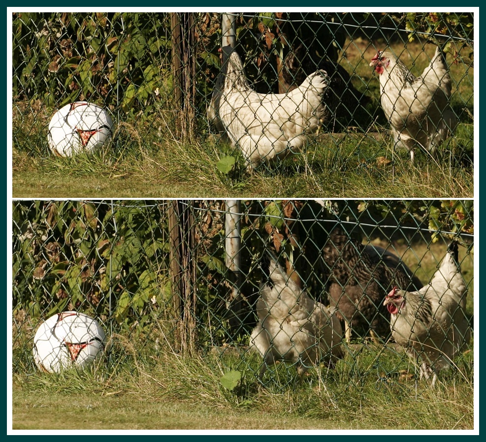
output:
M395 146L408 150L412 162L415 148L433 152L454 132L457 118L449 105L451 76L439 47L418 78L388 51L378 52L370 66L380 79L381 104Z

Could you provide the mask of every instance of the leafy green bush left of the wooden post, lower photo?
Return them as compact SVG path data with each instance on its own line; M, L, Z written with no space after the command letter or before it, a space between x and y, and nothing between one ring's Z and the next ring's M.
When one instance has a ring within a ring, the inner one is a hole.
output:
M122 328L170 301L161 206L21 201L13 210L13 310L46 318L67 309Z

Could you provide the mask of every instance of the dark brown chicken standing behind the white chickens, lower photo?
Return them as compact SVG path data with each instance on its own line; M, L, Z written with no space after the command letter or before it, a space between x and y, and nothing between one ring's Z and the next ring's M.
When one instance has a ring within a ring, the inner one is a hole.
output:
M370 331L373 340L389 335L383 292L393 284L418 290L420 279L398 256L378 246L364 245L335 226L329 233L322 256L330 278L329 302L344 320L346 341L351 331L361 336Z

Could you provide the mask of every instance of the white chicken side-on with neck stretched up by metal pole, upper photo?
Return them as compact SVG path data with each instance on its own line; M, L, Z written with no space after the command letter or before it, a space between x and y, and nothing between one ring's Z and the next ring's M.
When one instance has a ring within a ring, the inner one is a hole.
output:
M300 152L326 118L322 98L329 83L327 73L313 72L286 94L259 94L250 87L237 52L225 46L222 53L209 121L241 150L248 169Z

